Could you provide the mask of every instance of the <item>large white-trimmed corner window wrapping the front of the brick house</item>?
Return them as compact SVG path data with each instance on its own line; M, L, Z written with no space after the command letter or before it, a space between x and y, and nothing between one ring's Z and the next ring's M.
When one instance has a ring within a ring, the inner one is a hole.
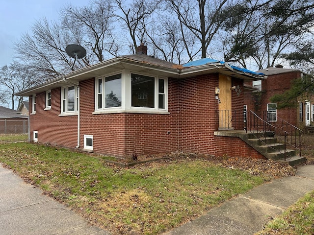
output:
M168 114L168 79L123 70L95 78L95 112Z

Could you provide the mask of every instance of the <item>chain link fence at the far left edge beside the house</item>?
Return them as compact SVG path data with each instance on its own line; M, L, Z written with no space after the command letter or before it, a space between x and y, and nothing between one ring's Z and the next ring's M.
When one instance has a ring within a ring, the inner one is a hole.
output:
M27 134L28 118L0 119L0 134Z

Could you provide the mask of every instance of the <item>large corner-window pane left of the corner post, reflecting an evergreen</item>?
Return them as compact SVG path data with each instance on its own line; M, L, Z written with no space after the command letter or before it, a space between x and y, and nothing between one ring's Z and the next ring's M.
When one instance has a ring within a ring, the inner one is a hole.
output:
M105 108L121 106L121 74L105 77Z

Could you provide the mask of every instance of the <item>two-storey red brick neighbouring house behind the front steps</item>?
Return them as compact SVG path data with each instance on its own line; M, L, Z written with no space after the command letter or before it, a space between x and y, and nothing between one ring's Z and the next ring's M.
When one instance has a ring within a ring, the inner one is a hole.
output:
M303 129L310 126L314 121L314 102L310 99L299 97L297 108L277 109L275 103L271 103L270 97L274 94L283 94L291 88L294 79L301 79L305 73L299 70L284 69L277 65L257 72L267 75L266 79L246 82L246 86L253 86L258 91L244 92L244 110L252 110L259 117L263 117L265 112L273 115L268 118L270 121L280 122L282 119L290 124Z

